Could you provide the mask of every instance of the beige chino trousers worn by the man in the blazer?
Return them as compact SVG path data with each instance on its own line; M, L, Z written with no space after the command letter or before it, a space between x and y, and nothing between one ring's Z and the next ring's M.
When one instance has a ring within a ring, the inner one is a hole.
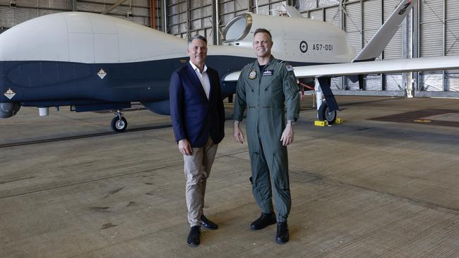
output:
M184 155L184 171L186 178L186 207L190 226L201 225L203 214L205 185L210 175L218 145L214 145L211 137L204 147L192 148L191 156Z

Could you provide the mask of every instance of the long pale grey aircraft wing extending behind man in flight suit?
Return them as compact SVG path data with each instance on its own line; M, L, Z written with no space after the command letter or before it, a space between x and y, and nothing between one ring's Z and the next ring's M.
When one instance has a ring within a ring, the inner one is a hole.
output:
M357 63L333 63L294 67L297 78L336 77L370 73L403 73L427 70L459 69L459 56L420 57L417 59L396 59L384 61L362 61ZM229 73L223 80L237 81L240 71Z

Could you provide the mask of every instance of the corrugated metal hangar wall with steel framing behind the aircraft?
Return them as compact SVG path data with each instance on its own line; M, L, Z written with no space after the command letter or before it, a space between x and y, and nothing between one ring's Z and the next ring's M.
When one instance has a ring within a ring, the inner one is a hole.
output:
M296 6L303 16L331 23L347 32L360 51L400 0L0 0L0 32L25 20L61 11L109 11L135 23L177 37L196 33L219 44L222 28L246 11L270 14ZM258 6L257 6L258 4ZM110 9L116 5L116 8ZM15 7L16 6L16 7ZM151 9L154 11L152 12ZM258 7L258 8L257 8ZM378 59L459 54L459 1L419 0ZM153 17L153 19L152 19ZM153 26L152 26L153 25ZM217 30L217 33L215 33ZM459 97L459 71L368 75L364 90L346 78L333 79L337 94ZM411 91L412 90L412 91Z

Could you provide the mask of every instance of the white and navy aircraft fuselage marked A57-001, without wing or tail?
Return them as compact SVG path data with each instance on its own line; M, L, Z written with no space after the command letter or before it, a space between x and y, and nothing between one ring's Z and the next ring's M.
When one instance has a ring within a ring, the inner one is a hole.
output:
M257 27L270 29L273 55L293 66L342 63L354 56L345 33L333 25L253 13L244 19L229 26L230 32L251 33L227 40L226 46L208 46L206 63L220 77L254 61L251 41ZM11 103L91 111L141 102L168 114L169 78L189 60L186 48L185 39L95 13L28 20L0 35L0 117L14 115ZM225 97L234 90L234 82L222 82Z

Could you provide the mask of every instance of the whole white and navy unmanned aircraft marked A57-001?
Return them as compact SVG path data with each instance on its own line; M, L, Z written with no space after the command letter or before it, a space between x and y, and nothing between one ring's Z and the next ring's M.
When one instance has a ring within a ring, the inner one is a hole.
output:
M326 100L317 94L318 116L333 123L338 110L330 90L333 76L459 68L457 56L435 62L373 61L415 2L401 1L357 56L344 31L304 18L291 6L286 6L289 17L244 13L225 27L224 45L208 46L206 64L218 71L224 97L231 97L240 70L254 61L253 32L265 27L273 35L273 56L290 63L299 82L316 80L315 89ZM112 129L121 132L127 127L122 111L132 102L168 115L169 78L188 61L186 47L186 39L95 13L54 13L25 21L0 35L0 118L14 116L20 106L36 106L40 115L52 106L77 112L108 109L115 113Z

